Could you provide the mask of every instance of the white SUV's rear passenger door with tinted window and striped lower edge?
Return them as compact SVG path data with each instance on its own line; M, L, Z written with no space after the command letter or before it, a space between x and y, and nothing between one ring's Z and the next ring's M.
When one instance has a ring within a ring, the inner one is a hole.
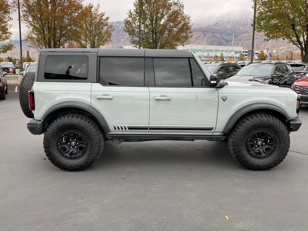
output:
M100 57L99 83L92 83L91 105L111 133L148 133L149 89L144 86L144 58Z

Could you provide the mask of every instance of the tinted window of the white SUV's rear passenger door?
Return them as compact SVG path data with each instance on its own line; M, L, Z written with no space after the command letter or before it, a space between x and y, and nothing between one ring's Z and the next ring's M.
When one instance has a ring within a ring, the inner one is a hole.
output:
M108 58L99 61L99 83L144 86L144 58Z

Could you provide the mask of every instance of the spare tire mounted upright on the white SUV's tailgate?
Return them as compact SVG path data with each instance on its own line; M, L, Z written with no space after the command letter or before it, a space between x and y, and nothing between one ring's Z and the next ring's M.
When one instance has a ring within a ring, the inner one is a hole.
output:
M32 111L29 108L28 91L31 90L35 78L35 72L26 73L21 80L19 87L19 103L23 114L28 118L34 118Z

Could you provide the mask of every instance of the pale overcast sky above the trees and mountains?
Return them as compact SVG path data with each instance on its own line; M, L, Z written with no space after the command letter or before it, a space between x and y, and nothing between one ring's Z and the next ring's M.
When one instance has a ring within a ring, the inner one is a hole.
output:
M110 21L123 21L127 11L132 9L134 0L85 0L84 2L99 3L100 10L105 11ZM252 0L183 0L183 2L185 13L189 14L193 21L204 14L223 14L229 11L251 9L252 6ZM13 25L12 39L19 40L17 12L13 14L13 20L10 23ZM26 31L26 25L22 24L22 39Z

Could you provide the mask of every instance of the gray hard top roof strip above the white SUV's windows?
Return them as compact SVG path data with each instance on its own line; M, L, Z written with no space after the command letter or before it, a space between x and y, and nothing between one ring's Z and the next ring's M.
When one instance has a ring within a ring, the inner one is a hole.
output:
M59 49L42 49L39 50L39 52L97 52L98 56L193 58L193 54L190 51L163 50L163 49L59 48Z

